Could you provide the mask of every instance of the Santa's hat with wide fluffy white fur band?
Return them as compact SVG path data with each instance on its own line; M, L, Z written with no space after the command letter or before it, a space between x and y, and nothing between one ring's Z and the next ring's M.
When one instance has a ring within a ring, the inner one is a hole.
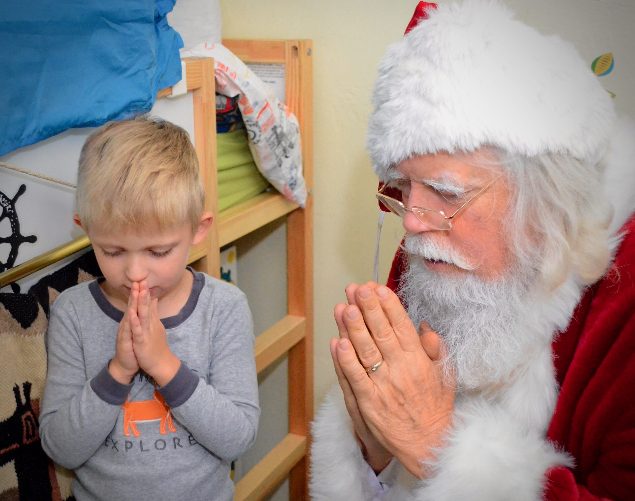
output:
M373 169L413 154L569 154L595 161L615 123L609 93L572 44L498 1L421 2L379 65L367 146Z

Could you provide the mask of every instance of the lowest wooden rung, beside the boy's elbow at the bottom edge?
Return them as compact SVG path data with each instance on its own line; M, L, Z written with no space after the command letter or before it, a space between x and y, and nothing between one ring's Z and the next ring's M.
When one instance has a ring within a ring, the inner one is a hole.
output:
M307 449L307 438L288 434L237 484L234 501L260 501L281 481Z

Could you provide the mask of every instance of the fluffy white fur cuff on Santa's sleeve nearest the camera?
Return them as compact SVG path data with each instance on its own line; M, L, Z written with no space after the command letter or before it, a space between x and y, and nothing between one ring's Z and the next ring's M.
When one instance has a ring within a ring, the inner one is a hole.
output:
M436 474L415 491L417 501L538 501L545 472L572 466L565 453L501 406L473 401L456 411L462 423L436 462Z

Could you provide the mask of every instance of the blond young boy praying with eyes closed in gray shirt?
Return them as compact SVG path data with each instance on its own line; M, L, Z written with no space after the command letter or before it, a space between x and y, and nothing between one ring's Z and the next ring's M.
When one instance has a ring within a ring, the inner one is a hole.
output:
M77 501L230 501L260 416L255 340L244 294L186 268L212 223L187 133L143 117L93 134L74 220L104 277L51 307L44 451Z

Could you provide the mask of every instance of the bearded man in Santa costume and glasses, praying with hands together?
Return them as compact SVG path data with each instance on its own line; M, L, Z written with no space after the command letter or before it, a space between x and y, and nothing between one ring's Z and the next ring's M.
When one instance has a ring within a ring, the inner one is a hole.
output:
M373 104L406 236L335 307L312 499L635 499L635 125L486 0L420 3Z

